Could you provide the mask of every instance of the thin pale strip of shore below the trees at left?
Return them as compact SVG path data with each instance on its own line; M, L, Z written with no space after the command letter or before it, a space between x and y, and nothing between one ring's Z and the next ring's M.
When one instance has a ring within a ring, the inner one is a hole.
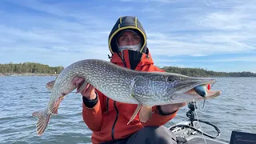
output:
M22 77L22 76L58 76L58 74L41 74L41 73L0 73L0 77Z

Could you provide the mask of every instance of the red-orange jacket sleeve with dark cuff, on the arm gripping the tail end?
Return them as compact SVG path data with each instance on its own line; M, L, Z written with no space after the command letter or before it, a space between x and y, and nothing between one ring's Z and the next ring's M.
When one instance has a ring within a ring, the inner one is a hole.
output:
M96 90L95 90L96 91ZM103 96L96 92L95 100L83 98L82 118L86 125L92 131L98 131L102 128L102 107L104 107Z

